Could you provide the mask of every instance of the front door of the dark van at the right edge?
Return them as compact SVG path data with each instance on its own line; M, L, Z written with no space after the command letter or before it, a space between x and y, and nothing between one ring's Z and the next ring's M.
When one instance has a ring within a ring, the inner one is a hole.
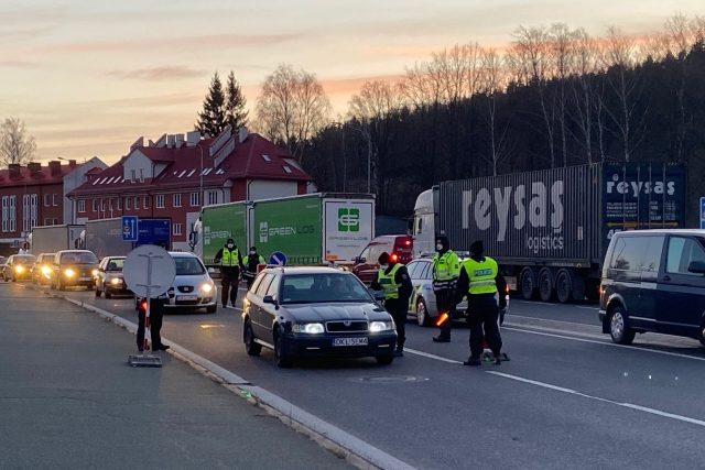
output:
M688 265L693 261L705 262L704 245L698 237L669 237L658 285L659 331L698 336L705 313L705 277L691 273Z

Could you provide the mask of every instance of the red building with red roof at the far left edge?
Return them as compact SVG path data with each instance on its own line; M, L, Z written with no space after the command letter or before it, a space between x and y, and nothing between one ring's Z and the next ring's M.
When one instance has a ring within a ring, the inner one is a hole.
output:
M10 164L0 170L0 254L15 253L36 226L72 223L70 200L66 195L86 181L86 173L107 165L93 157L83 164L51 161L43 166Z

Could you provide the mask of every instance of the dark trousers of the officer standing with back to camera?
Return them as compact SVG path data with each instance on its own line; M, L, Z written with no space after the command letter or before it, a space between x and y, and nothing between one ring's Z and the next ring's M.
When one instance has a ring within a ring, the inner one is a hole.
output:
M487 340L492 353L499 354L502 339L497 319L499 307L495 294L468 295L467 323L470 326L470 356L479 359L482 353L482 338Z

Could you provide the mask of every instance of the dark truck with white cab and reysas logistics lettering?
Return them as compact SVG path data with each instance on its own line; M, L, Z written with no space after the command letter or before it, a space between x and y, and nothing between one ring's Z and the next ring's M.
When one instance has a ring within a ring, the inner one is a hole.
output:
M436 234L454 250L481 240L525 299L595 299L612 234L685 226L686 170L669 163L599 163L448 181L414 206L416 253Z

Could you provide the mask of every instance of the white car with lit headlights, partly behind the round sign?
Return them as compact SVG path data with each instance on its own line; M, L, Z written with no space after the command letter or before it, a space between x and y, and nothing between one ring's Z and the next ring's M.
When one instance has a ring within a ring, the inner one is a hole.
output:
M205 308L214 314L217 309L218 289L208 270L194 253L170 251L176 263L176 278L169 289L166 308L198 310Z

